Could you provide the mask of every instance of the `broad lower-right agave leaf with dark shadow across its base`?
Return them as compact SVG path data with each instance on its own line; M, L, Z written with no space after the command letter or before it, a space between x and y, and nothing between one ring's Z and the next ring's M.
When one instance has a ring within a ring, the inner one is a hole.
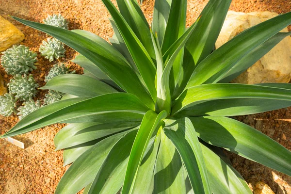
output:
M203 141L291 176L291 151L260 131L222 116L190 119Z

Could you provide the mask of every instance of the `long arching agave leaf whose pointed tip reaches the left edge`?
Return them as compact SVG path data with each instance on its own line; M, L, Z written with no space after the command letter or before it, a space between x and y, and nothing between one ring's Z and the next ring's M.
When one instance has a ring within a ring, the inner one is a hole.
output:
M1 138L27 133L55 123L140 121L148 110L137 97L127 93L82 99L61 100L51 106L44 106L23 118Z

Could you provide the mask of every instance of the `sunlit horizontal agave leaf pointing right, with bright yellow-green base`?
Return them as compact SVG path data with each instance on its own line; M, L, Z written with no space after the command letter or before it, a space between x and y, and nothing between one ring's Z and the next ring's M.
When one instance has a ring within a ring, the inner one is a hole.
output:
M185 90L175 101L172 114L199 104L206 100L229 98L260 98L274 100L291 100L291 91L259 85L216 83L203 84Z

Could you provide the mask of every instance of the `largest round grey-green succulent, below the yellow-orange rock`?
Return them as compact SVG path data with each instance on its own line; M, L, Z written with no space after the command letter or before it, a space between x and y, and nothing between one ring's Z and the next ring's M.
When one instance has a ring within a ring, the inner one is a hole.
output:
M1 65L10 75L29 73L36 69L34 63L37 61L37 54L24 45L14 45L2 54Z

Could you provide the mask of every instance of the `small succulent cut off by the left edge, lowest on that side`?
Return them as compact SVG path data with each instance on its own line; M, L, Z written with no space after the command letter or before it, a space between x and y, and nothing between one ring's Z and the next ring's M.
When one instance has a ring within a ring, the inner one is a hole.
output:
M13 113L16 113L16 99L12 94L4 94L0 96L0 114L2 116L10 116Z

